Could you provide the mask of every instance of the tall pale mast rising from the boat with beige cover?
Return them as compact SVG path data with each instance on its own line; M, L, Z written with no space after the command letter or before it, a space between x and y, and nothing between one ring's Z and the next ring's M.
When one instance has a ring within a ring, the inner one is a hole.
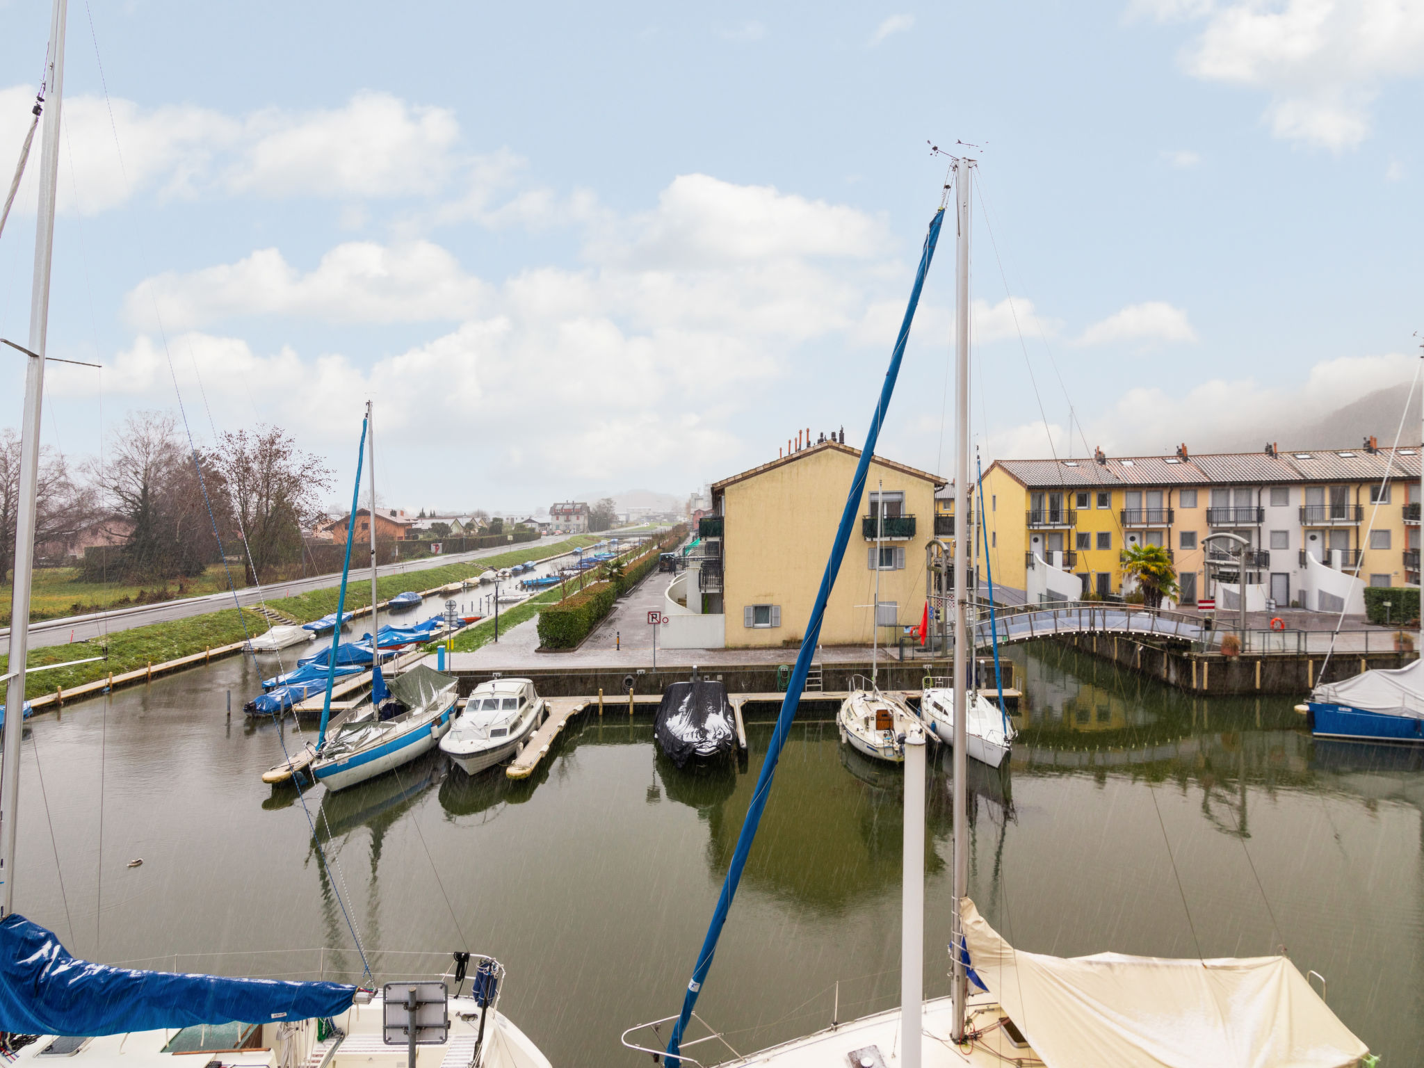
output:
M968 1000L968 977L964 973L964 957L960 950L963 930L960 903L968 893L970 836L965 826L965 779L968 776L968 651L974 644L970 638L967 609L967 580L970 565L970 171L973 161L954 162L956 192L956 245L954 245L954 1020L951 1034L954 1041L964 1038L964 1007Z

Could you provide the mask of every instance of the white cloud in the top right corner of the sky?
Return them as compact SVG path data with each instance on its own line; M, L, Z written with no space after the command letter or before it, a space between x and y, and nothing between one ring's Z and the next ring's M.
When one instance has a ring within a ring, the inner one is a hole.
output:
M1128 13L1202 23L1188 73L1266 90L1276 137L1333 151L1370 135L1388 80L1424 74L1418 0L1134 0Z

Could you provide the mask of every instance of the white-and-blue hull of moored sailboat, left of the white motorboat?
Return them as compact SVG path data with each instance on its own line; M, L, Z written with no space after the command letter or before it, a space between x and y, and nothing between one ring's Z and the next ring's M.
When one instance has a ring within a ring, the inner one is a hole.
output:
M326 735L312 776L329 790L345 790L430 752L450 729L457 688L456 679L423 664L397 675L390 696L373 701L376 718L349 721Z

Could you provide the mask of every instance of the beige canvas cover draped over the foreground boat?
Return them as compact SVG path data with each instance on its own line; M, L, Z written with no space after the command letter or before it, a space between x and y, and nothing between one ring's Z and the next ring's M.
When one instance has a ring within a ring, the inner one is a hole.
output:
M1048 1068L1351 1068L1368 1049L1286 957L1015 950L963 901L970 967Z

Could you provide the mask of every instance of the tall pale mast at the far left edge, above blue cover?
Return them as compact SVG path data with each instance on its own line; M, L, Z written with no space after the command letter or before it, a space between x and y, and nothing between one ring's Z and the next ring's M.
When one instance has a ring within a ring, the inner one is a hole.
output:
M50 63L44 71L44 134L40 141L40 204L34 224L34 286L30 292L30 356L24 369L20 424L20 501L14 531L14 590L10 598L10 679L6 688L4 755L0 758L0 914L14 910L16 809L20 802L20 739L24 733L24 665L30 652L30 580L34 572L34 504L40 480L40 409L44 399L44 342L50 320L50 263L54 258L54 195L60 175L60 101L64 88L67 0L50 16Z

